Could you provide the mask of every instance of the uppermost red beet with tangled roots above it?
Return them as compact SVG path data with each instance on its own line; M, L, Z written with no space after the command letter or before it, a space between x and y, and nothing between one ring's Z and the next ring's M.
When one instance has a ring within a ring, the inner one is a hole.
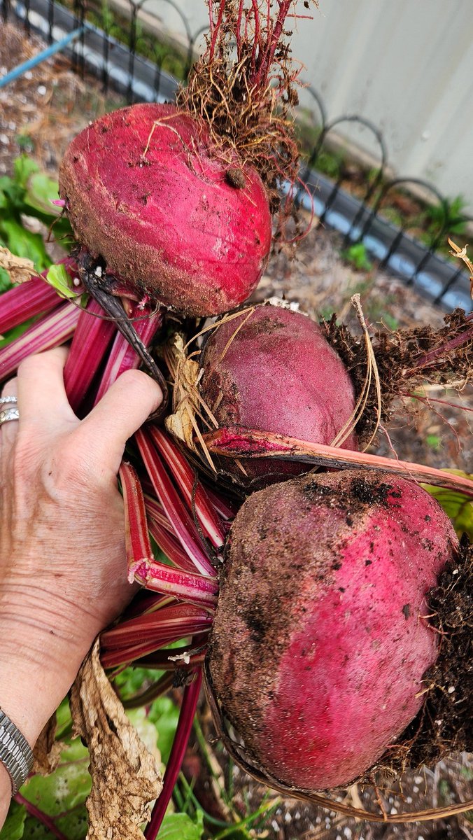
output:
M60 197L76 239L110 272L187 315L237 306L265 268L260 177L174 105L133 105L84 129L60 166Z

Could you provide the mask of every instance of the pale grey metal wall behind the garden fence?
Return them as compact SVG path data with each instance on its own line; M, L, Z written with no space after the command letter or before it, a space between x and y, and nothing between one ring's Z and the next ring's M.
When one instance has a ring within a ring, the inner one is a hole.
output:
M192 32L206 24L203 0L178 5ZM147 0L145 9L181 31L167 3ZM293 55L328 119L370 119L397 174L433 181L447 197L461 194L473 212L473 0L320 0L313 21L296 29ZM307 93L301 100L311 108ZM367 132L347 123L337 130L376 150Z

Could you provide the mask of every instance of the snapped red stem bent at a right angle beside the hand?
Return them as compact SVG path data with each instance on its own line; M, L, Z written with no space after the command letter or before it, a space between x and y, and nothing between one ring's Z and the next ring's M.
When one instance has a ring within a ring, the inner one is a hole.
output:
M130 582L136 580L146 589L213 606L218 593L218 582L214 577L193 575L154 559L148 535L145 497L138 475L130 464L124 462L119 476L124 494L125 546Z

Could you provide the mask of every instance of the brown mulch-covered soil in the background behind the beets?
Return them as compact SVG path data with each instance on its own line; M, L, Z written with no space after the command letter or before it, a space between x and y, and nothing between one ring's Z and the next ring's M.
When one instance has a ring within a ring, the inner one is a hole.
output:
M25 38L13 25L3 25L0 75L44 46L39 39ZM13 160L24 151L33 155L46 171L57 174L58 161L77 131L89 120L124 104L117 94L104 96L96 80L82 81L63 57L44 62L0 90L0 176L12 173ZM360 293L365 318L370 323L384 323L388 329L421 323L440 326L443 312L438 307L429 305L402 281L377 270L376 265L369 271L355 270L340 257L340 249L335 234L314 227L299 245L296 260L284 253L273 256L256 299L286 297L317 318L337 312L341 321L357 329L350 297ZM450 391L425 386L419 396L421 399L405 399L371 451L386 455L396 452L402 459L426 465L473 471L471 388L464 382L458 382ZM212 725L205 709L202 721L208 743L213 743ZM255 811L267 790L232 767L218 744L213 744L212 756L216 766L227 774L227 785L231 776L234 814ZM199 776L202 796L208 800L206 807L216 815L228 814L229 808L219 801L204 766L202 756L191 748L187 767L192 767L194 778ZM406 774L402 785L392 785L392 790L383 795L383 802L387 813L396 814L403 809L446 806L472 795L473 757L463 753L440 762L434 770ZM359 807L370 806L372 790L355 785L347 791L345 800ZM473 840L473 811L470 817L455 816L437 822L380 825L356 822L302 802L281 800L254 836L271 840Z

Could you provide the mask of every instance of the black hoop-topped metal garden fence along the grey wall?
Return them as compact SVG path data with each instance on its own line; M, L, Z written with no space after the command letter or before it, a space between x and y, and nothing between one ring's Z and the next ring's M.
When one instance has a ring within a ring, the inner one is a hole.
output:
M171 37L163 28L160 11L165 6L177 16L178 35ZM104 92L113 88L129 102L171 100L179 81L185 81L206 31L192 32L178 0L114 0L113 6L108 0L0 0L2 19L15 19L27 34L41 35L50 46L49 54L60 49L77 73L97 76ZM460 306L470 310L469 277L458 261L445 259L441 251L452 223L459 227L451 203L427 181L389 176L380 129L357 114L328 119L322 97L310 84L307 92L315 115L303 144L305 163L297 200L309 207L310 193L318 224L339 230L345 248L361 243L381 267L435 303L446 309ZM331 139L344 123L355 123L371 134L378 150L376 165L362 171L356 194L346 189L343 157L330 155ZM323 165L327 155L329 166ZM413 231L419 234L418 218L402 213L394 213L392 218L386 210L392 196L418 194L419 190L424 197L420 202L422 239L412 235ZM460 219L464 226L469 222L466 216Z

